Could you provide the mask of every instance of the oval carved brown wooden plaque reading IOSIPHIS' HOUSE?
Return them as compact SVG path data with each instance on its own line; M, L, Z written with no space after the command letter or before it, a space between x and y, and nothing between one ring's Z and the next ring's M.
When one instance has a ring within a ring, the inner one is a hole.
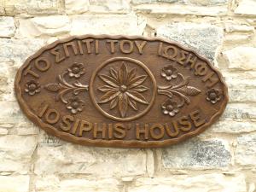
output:
M221 74L194 50L160 38L107 35L38 50L20 67L15 92L45 131L103 147L178 143L212 125L228 102Z

